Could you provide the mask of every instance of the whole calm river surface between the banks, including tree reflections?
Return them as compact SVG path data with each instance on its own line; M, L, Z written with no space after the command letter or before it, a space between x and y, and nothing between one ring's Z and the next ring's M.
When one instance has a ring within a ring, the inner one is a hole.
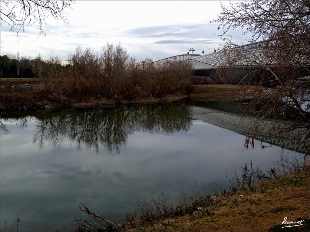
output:
M244 149L250 121L236 103L219 104L2 112L1 228L19 218L20 231L70 230L74 215L87 219L79 203L116 221L146 197L163 193L177 205L197 185L206 194L228 189L226 175L250 160L270 170L280 155L302 155L299 138L268 139L266 131Z

